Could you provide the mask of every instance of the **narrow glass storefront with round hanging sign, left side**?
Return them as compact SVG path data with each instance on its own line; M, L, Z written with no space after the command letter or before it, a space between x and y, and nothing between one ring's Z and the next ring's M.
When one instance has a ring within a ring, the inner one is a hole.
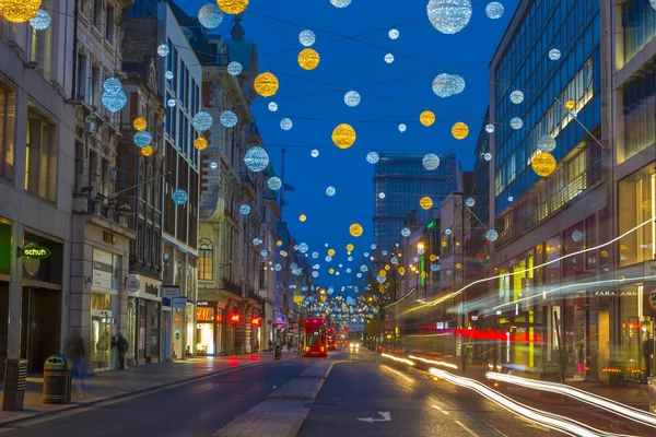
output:
M131 275L128 280L139 281L139 291L128 293L128 356L132 365L159 363L161 359L162 296L160 288L162 283L143 275Z

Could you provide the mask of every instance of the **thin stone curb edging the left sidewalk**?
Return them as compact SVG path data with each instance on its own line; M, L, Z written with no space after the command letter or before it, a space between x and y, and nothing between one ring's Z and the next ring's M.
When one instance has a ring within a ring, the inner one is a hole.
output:
M293 361L293 359L295 359L295 358L286 359L286 361ZM58 409L58 410L44 411L44 412L32 414L32 415L26 416L26 417L20 417L20 418L14 418L14 420L11 420L11 421L2 422L2 423L0 423L0 432L2 432L3 428L23 427L23 426L15 426L15 425L20 425L20 424L25 424L24 426L28 426L30 425L28 422L31 422L31 421L33 421L35 418L42 418L43 420L44 417L55 416L57 414L69 412L71 410L83 410L83 409L87 409L87 408L97 406L97 405L99 405L102 403L109 402L109 401L118 401L118 400L121 400L121 399L128 399L128 398L132 398L132 397L140 397L140 395L148 394L149 392L154 392L154 391L162 390L162 389L165 389L165 388L169 388L169 387L174 387L174 386L178 386L178 385L183 385L183 383L198 381L198 380L201 380L201 379L211 378L211 377L216 376L216 375L225 374L227 371L235 371L235 370L238 370L238 369L248 368L248 367L255 367L255 366L267 364L267 363L276 363L276 361L273 361L273 362L266 362L266 363L265 362L248 363L248 364L245 364L243 366L231 367L231 368L225 368L225 369L221 369L221 370L213 370L211 373L202 374L202 375L197 375L197 376L194 376L194 377L190 377L190 378L178 379L178 380L175 380L175 381L159 383L156 386L147 387L147 388L143 388L143 389L140 389L140 390L134 390L134 391L131 391L129 393L121 393L121 394L117 394L117 395L113 395L113 397L108 397L108 398L104 398L104 399L97 399L97 400L91 401L91 402L67 404L66 406L63 406L61 409Z

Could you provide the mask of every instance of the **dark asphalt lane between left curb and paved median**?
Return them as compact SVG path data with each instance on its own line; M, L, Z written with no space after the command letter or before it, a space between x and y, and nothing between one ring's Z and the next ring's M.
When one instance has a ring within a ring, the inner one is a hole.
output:
M265 399L312 363L267 363L236 369L110 404L71 410L59 415L0 427L16 437L200 437L211 436Z

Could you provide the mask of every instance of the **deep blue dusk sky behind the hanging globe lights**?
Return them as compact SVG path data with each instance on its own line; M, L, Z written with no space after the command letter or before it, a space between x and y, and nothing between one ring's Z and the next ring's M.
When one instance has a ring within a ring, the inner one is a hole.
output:
M473 147L489 103L488 66L518 1L502 1L505 13L500 20L485 15L488 1L472 1L471 21L455 35L432 26L426 3L353 0L338 9L329 0L251 0L243 14L246 38L257 44L259 71L269 70L280 80L278 94L258 98L253 113L277 175L281 174L281 149L286 149L284 182L295 191L284 194L284 220L297 244L305 241L309 252L319 252L319 284L347 284L345 269L356 270L362 252L373 243L374 166L365 161L370 151L456 152L462 169L473 165ZM181 3L192 16L203 4ZM226 15L212 33L229 38L230 26L232 16ZM396 40L388 36L393 27L400 32ZM313 48L321 59L314 71L296 62L304 48L298 33L305 28L317 35ZM391 64L384 60L387 52L395 56ZM431 85L442 72L460 74L467 83L465 91L447 98L436 96ZM362 96L355 108L344 104L349 90ZM277 113L267 108L271 101L279 105ZM437 118L430 128L419 123L424 109ZM292 119L292 130L280 129L283 117ZM457 121L470 129L462 141L450 134ZM342 122L358 133L349 150L337 149L330 139ZM408 126L405 133L398 130L401 122ZM317 158L311 156L313 149L320 152ZM325 193L328 186L337 188L331 198ZM441 199L433 200L438 203ZM302 213L307 216L305 223L298 221ZM353 222L364 227L360 238L349 234ZM326 243L338 252L330 263L324 261ZM353 262L347 261L349 243L355 246ZM341 275L329 275L328 269L337 269L340 262Z

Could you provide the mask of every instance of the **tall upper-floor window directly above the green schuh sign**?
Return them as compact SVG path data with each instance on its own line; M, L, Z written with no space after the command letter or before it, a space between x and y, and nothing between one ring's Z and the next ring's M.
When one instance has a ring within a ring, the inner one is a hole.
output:
M57 200L57 125L32 104L25 141L25 190Z

